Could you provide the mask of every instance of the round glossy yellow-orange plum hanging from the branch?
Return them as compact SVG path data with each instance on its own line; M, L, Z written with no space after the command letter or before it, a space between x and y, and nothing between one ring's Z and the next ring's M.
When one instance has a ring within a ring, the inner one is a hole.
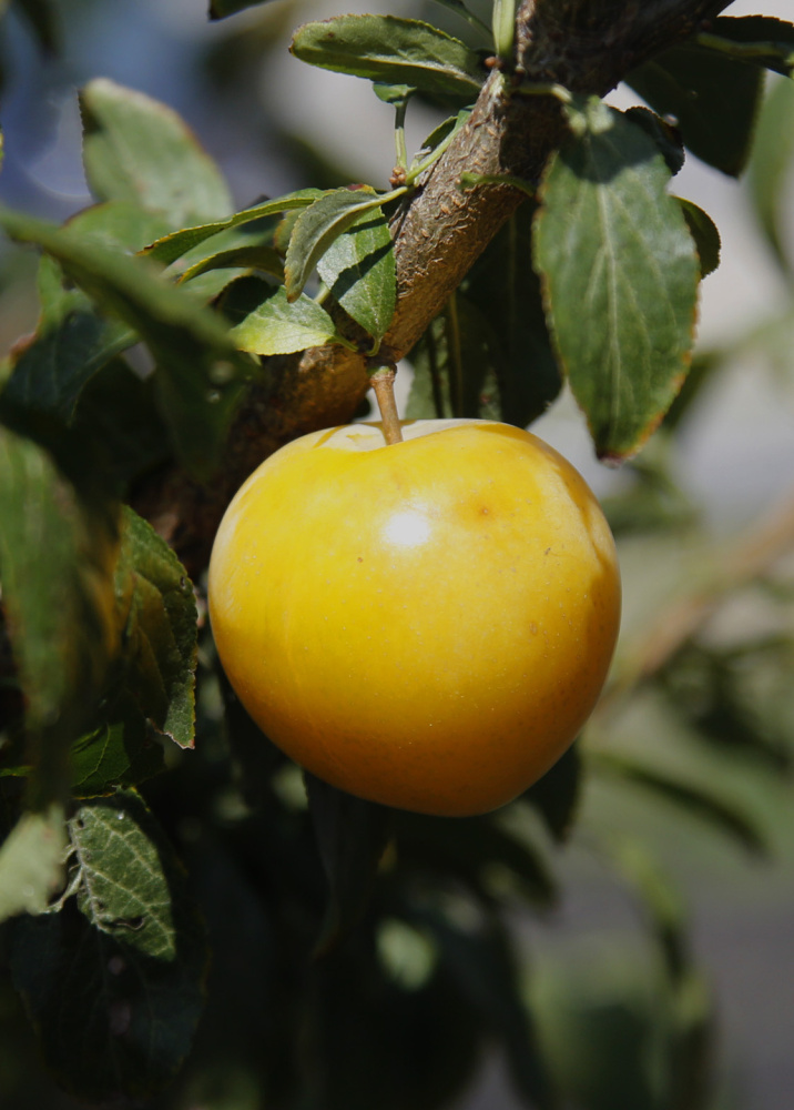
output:
M581 476L491 421L316 432L241 487L210 617L241 702L288 756L384 805L503 805L592 710L620 576Z

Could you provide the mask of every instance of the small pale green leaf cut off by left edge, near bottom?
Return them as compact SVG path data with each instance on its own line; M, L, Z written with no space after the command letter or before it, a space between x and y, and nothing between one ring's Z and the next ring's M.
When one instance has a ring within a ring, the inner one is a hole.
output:
M22 814L0 846L0 921L47 909L63 886L65 848L62 806Z

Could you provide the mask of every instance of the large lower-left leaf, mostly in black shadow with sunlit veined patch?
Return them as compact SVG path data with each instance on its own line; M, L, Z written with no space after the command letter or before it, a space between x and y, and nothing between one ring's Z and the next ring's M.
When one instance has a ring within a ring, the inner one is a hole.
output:
M69 835L77 898L14 924L13 981L62 1086L91 1102L147 1100L191 1046L204 929L171 845L135 794L81 806Z

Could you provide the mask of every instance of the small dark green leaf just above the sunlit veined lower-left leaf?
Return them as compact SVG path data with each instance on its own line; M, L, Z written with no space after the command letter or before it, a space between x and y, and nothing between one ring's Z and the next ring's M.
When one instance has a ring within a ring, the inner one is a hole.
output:
M138 786L164 769L154 729L129 695L104 707L105 719L72 747L72 793L77 798Z

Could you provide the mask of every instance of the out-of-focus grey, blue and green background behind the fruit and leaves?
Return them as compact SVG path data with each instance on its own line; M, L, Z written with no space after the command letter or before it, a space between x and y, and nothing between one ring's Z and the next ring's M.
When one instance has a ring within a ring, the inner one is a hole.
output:
M214 24L201 0L3 7L0 194L12 206L61 220L89 203L75 88L100 74L180 111L238 205L388 178L390 110L369 94L350 129L355 82L333 79L326 110L342 125L329 145L317 142L322 122L303 125L318 85L294 61L287 78L285 43L318 4L273 3ZM444 26L446 14L434 19ZM421 138L437 117L431 105L417 117ZM362 151L356 138L371 128L378 142ZM345 129L355 132L346 143ZM604 476L581 457L620 545L623 635L577 749L525 798L456 823L395 815L388 828L352 801L355 847L335 847L320 828L320 859L299 773L263 746L203 629L196 750L169 753L142 790L186 865L213 951L195 1043L156 1108L786 1104L794 455L780 454L757 505L745 496L734 513L726 465L717 500L729 508L716 517L686 461L725 381L765 392L773 423L793 410L791 135L794 87L781 80L742 193L755 250L776 271L767 310L723 342L705 320L686 386L635 462ZM34 286L34 258L3 244L3 350L35 325ZM538 431L580 463L569 401ZM721 450L732 448L729 432ZM322 820L338 799L319 784L312 791ZM367 857L386 842L370 884ZM0 968L12 963L4 930ZM75 1102L41 1067L12 972L0 970L0 1102L67 1110ZM44 1045L73 1086L61 1049Z

